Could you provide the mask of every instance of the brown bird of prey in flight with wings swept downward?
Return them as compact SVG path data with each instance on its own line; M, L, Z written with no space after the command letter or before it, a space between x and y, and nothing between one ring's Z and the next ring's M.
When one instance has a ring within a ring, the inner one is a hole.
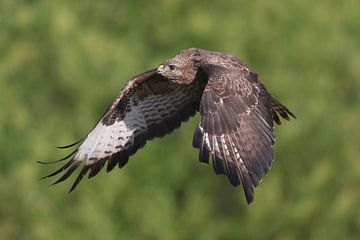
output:
M215 173L242 185L248 203L254 188L274 160L274 122L289 120L287 107L277 101L242 60L227 53L190 48L158 68L128 81L92 131L82 140L60 148L79 146L57 171L67 179L81 166L70 192L83 176L94 177L106 164L122 168L146 141L163 137L200 112L193 137L199 160Z

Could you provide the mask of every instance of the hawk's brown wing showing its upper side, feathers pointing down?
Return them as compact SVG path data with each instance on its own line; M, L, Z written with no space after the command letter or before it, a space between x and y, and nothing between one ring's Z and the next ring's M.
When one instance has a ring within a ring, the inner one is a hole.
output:
M243 186L248 203L274 159L272 97L247 68L207 65L208 84L193 146L202 162L212 157L217 174Z

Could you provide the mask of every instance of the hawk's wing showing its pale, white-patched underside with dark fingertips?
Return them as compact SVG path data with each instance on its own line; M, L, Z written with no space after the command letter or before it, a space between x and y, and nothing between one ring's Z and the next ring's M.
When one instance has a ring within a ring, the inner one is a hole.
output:
M150 70L132 78L118 94L94 129L73 153L70 160L51 177L66 171L54 184L82 169L70 191L88 172L95 176L107 162L107 171L123 167L129 156L147 140L162 137L178 128L199 109L205 83L175 84ZM69 145L72 146L72 145ZM68 147L68 146L65 146Z

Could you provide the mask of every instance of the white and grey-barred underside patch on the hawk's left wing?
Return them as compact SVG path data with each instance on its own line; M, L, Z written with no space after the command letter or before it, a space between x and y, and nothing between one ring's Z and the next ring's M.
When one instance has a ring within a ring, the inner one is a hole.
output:
M131 147L136 134L147 134L149 124L160 125L166 118L180 115L179 105L191 100L184 89L177 88L171 94L147 97L133 105L123 120L111 125L104 124L101 119L78 148L74 160L91 165ZM145 138L149 139L148 136Z

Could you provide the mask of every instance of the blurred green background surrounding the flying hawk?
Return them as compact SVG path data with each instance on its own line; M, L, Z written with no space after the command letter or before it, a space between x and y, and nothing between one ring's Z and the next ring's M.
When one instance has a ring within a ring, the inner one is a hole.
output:
M360 2L0 1L1 239L359 239ZM48 187L133 75L179 50L241 57L297 119L247 205L191 146L199 116L128 165Z

